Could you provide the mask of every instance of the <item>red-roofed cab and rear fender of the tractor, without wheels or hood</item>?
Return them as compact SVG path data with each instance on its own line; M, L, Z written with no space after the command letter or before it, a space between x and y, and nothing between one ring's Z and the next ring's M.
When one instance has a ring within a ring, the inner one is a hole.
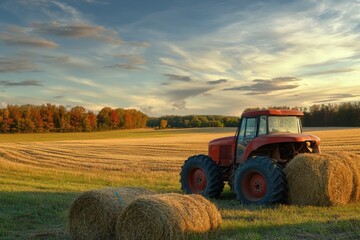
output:
M245 112L234 139L235 163L265 155L286 164L299 153L319 153L320 139L302 133L302 116L303 113L296 110Z

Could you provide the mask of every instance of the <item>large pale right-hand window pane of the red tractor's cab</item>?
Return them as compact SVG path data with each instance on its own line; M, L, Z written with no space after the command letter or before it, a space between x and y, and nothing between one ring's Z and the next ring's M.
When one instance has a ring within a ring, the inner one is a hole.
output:
M269 116L269 133L301 133L300 119L295 116Z

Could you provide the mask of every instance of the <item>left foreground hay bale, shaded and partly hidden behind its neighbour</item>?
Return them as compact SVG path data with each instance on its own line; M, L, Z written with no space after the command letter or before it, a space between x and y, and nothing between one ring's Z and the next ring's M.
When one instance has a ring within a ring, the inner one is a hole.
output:
M113 239L118 212L142 195L143 188L105 188L81 194L71 205L69 231L73 239Z

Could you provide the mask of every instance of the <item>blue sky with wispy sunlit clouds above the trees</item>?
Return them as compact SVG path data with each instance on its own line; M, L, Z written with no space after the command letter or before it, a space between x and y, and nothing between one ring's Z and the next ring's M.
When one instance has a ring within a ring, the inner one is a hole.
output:
M0 0L0 107L360 101L360 0Z

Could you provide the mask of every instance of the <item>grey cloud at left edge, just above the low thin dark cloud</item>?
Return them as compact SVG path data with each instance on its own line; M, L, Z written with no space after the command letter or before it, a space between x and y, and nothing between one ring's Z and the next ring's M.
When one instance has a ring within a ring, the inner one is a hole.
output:
M38 71L36 65L24 58L6 58L0 57L1 72L34 72Z

